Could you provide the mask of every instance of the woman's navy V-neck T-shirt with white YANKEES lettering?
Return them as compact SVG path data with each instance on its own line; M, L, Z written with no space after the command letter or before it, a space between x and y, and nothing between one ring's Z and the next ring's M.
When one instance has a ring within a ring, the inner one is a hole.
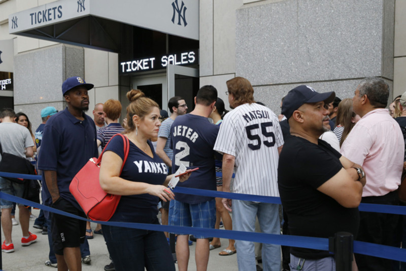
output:
M162 185L167 175L167 169L162 159L155 154L152 143L148 141L154 155L153 158L144 153L134 143L129 142L128 158L120 177L132 182ZM123 139L120 136L113 137L105 151L108 150L124 159ZM156 223L158 201L158 197L149 194L121 196L120 203L110 221Z

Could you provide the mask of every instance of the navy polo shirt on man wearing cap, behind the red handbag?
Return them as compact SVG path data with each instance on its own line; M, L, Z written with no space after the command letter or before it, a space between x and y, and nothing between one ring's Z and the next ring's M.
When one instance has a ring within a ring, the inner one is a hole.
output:
M96 126L83 113L84 121L73 116L67 108L51 116L44 127L38 168L56 171L59 195L80 205L69 191L76 173L92 157L97 157ZM49 195L46 185L45 192ZM48 199L49 202L49 199Z

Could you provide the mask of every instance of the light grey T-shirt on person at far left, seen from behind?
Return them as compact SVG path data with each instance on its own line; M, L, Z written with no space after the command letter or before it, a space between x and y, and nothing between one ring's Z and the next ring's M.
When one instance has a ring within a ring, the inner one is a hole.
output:
M32 147L34 142L24 126L16 123L0 123L0 144L2 144L3 153L25 158L25 148Z

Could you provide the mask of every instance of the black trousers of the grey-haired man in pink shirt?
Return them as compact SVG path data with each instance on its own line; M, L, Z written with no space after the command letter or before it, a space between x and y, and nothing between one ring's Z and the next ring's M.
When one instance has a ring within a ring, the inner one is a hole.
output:
M399 205L397 191L380 197L363 197L362 203ZM396 247L396 226L399 216L372 212L360 212L358 241ZM360 271L386 271L391 270L394 261L355 254L355 260Z

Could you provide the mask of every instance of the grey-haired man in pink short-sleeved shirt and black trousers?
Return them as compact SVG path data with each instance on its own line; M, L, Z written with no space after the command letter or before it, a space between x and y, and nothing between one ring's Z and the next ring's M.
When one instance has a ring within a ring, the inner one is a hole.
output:
M360 164L368 182L363 188L364 203L398 205L396 189L403 168L404 141L397 122L385 109L389 86L381 78L363 79L353 98L353 110L361 116L344 141L341 154ZM357 240L395 246L394 231L397 215L360 213ZM355 254L359 270L391 270L392 261Z

